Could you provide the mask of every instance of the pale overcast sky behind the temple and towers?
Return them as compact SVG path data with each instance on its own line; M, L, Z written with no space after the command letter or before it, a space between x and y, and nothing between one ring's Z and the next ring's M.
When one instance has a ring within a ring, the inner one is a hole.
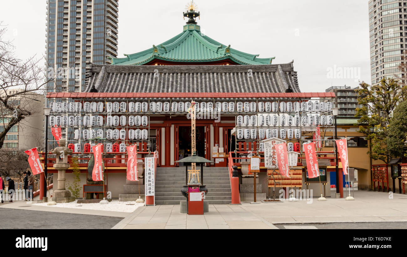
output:
M187 0L119 0L119 56L182 32ZM370 84L368 0L197 0L201 32L273 63L294 60L300 89ZM45 0L0 0L16 54L44 57ZM352 70L352 73L341 70Z

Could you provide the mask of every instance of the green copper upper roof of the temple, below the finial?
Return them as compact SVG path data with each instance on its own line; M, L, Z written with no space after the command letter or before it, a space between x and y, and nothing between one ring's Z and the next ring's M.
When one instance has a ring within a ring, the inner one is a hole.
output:
M174 62L211 62L230 59L242 65L270 64L275 57L257 58L258 54L240 52L202 34L196 24L184 26L184 31L152 48L125 58L112 58L113 65L143 65L153 59Z

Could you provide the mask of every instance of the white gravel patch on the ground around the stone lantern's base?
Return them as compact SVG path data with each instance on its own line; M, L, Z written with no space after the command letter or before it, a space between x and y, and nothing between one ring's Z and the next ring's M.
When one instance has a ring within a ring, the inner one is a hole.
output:
M138 207L144 206L144 203L136 202L119 202L112 200L112 202L101 205L100 203L77 203L77 200L71 203L57 203L56 205L47 205L47 203L36 203L34 205L46 206L50 208L63 207L72 209L87 209L95 211L118 211L118 212L133 212Z

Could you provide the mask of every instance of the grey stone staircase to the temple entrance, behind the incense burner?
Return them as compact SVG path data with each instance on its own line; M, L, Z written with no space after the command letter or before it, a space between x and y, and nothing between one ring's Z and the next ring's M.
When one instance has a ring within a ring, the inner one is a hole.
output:
M200 166L197 166L197 169L200 169ZM158 167L155 179L155 204L179 205L179 201L185 201L186 198L181 194L183 185L185 185L185 166ZM204 185L208 188L204 201L218 205L232 203L228 168L204 167Z

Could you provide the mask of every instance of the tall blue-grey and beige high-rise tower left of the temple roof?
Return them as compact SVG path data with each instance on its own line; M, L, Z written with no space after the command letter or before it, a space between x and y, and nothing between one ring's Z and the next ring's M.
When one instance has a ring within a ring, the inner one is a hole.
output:
M46 15L48 92L81 92L90 63L117 57L118 0L47 0Z

